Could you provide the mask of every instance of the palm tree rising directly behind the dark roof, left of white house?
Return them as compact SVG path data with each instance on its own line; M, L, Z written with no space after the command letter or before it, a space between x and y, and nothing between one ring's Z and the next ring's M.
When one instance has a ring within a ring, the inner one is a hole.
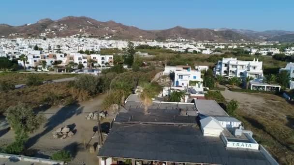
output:
M148 114L148 107L152 105L152 98L157 95L157 92L150 83L144 83L142 87L143 90L140 92L139 97L144 105L144 114Z

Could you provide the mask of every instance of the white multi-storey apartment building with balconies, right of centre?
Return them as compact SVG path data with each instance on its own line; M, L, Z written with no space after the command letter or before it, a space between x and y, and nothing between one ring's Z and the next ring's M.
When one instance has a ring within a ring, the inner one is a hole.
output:
M253 59L253 61L241 61L237 58L222 58L214 68L215 75L225 77L239 77L241 79L248 76L255 81L263 78L263 62Z

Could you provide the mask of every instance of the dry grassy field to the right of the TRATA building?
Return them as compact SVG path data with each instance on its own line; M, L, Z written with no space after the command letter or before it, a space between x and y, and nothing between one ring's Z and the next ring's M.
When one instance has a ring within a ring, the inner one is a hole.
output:
M294 105L284 98L269 94L248 94L262 98L263 103L240 102L238 117L254 138L280 164L294 164Z

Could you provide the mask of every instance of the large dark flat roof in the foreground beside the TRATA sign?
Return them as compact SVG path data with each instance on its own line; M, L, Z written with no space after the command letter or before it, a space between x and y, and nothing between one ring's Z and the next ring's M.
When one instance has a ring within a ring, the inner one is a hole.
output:
M98 152L101 157L222 165L270 165L260 151L226 150L221 138L198 127L115 123Z

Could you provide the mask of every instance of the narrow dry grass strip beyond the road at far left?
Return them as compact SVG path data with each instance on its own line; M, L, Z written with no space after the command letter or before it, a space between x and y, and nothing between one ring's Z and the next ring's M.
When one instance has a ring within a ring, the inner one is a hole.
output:
M12 84L24 84L30 74L37 75L42 81L56 80L69 77L75 77L75 74L47 74L47 73L18 73L18 72L2 72L0 73L0 81Z

